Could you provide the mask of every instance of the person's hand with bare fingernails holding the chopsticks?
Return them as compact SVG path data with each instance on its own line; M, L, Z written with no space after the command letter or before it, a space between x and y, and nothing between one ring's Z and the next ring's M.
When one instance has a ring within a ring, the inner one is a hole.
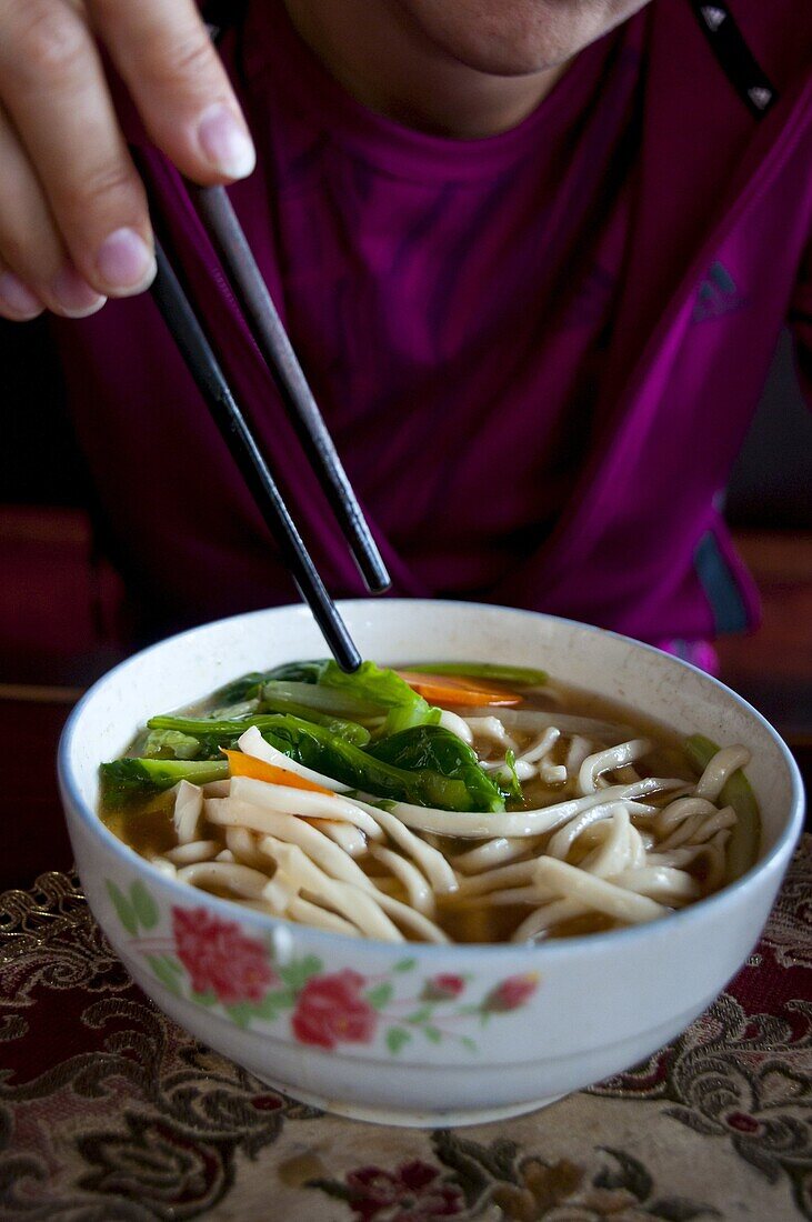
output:
M98 42L96 42L98 40ZM245 177L254 148L193 0L0 0L0 315L95 313L155 275L110 55L153 142L195 182Z

